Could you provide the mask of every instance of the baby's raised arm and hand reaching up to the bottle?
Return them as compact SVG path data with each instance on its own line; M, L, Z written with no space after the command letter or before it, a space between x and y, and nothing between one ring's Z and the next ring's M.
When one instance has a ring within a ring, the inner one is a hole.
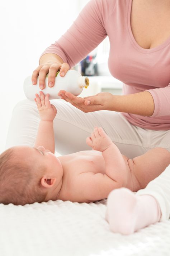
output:
M53 120L56 116L57 109L51 105L49 94L46 96L40 91L40 97L36 94L35 102L39 111L41 121L39 122L38 133L34 147L43 146L55 153L55 139L53 130Z

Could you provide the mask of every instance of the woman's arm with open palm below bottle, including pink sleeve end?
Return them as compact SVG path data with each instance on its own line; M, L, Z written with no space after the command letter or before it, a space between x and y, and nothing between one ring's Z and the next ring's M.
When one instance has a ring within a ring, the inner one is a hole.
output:
M141 116L170 116L170 84L163 88L128 95L98 93L94 96L78 98L64 90L58 95L83 112L104 109Z

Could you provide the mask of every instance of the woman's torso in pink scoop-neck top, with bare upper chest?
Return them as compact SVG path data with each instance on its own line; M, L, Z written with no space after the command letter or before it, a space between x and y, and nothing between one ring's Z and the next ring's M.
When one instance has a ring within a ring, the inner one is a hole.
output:
M170 4L167 8L164 1L116 1L106 31L109 70L123 82L122 94L150 90L154 97L154 116L123 116L142 128L169 130L169 113L157 115L156 111L170 107Z

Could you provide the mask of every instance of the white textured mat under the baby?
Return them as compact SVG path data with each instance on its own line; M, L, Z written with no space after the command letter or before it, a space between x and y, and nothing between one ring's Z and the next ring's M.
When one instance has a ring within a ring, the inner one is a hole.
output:
M105 204L0 204L0 256L170 255L170 221L132 235L112 233Z

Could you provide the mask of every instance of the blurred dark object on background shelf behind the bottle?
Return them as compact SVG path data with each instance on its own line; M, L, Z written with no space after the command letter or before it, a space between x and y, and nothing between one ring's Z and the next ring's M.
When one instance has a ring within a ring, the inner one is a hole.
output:
M98 65L96 55L88 55L81 62L81 75L82 76L98 76Z

